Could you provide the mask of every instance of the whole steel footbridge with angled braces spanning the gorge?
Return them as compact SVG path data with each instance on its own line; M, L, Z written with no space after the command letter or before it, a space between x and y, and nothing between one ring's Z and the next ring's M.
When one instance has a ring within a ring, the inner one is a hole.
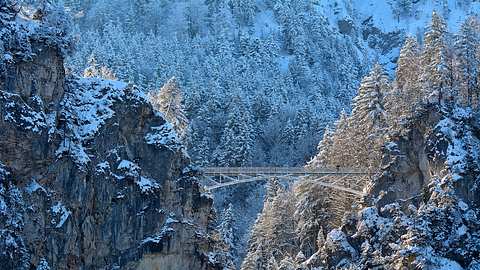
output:
M219 188L266 181L270 178L296 181L309 179L320 186L343 191L352 195L363 196L362 187L341 185L347 177L365 177L370 173L350 168L315 168L304 167L207 167L203 168L208 183L206 189L214 191ZM339 179L340 177L340 179ZM333 180L332 180L333 179Z

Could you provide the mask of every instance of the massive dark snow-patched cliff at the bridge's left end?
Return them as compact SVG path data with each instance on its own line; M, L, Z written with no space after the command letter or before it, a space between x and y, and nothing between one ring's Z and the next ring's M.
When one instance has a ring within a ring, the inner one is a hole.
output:
M171 124L133 86L66 76L58 36L4 15L0 268L219 268Z

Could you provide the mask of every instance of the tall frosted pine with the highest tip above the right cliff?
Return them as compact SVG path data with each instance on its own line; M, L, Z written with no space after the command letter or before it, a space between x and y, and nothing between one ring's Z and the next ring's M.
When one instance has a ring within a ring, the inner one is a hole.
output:
M432 22L425 33L425 47L422 55L422 82L429 102L439 104L448 97L452 86L451 64L446 42L446 25L443 19L433 13Z

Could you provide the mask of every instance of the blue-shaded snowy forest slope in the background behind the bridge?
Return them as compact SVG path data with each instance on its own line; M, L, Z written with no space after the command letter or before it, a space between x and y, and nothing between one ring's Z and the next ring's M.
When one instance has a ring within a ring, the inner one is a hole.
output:
M479 7L469 0L64 2L78 28L72 72L106 67L151 91L175 76L191 123L189 153L215 165L303 165L325 126L350 111L373 62L393 71L406 33L422 35L433 9L456 28Z

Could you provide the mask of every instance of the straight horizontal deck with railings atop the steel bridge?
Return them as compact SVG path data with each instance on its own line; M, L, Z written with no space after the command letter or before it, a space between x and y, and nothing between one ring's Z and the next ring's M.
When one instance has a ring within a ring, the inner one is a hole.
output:
M359 169L350 168L316 168L307 169L304 167L207 167L204 168L206 176L239 176L239 175L366 175L368 173Z

